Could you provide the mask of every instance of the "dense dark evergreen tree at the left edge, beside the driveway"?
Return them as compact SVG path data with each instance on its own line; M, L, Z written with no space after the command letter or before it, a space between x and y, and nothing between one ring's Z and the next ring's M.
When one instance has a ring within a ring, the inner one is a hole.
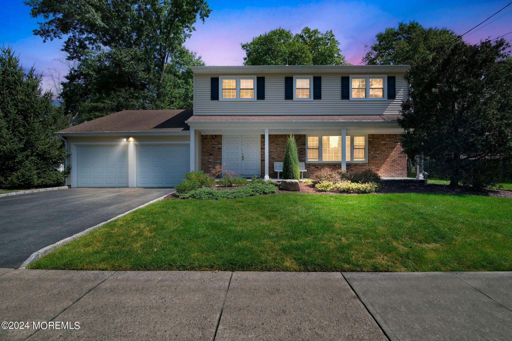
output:
M0 187L31 188L64 184L58 168L66 151L52 133L62 125L52 94L41 94L41 77L19 64L10 48L0 49Z

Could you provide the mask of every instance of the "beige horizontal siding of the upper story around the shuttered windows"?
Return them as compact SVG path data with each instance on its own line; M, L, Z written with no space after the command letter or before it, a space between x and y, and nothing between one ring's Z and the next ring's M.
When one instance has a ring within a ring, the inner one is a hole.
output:
M265 77L265 100L212 101L210 77L219 74L195 75L194 115L381 115L399 113L402 100L408 97L408 84L403 74L371 74L396 76L395 100L342 100L341 76L348 74L314 74L322 76L322 99L310 101L285 100L285 76L291 74L257 74ZM251 75L252 76L252 75ZM363 75L361 75L363 76ZM365 75L366 76L366 75Z

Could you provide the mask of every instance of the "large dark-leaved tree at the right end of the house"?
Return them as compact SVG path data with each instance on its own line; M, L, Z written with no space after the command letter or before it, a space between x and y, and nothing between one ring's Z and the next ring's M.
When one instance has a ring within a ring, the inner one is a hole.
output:
M483 188L512 155L512 60L504 40L456 42L425 54L406 74L402 145L436 175Z

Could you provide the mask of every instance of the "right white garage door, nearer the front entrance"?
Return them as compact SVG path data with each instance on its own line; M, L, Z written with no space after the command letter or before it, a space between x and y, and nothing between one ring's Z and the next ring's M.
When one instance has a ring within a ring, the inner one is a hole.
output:
M174 187L190 169L188 145L137 145L137 186Z

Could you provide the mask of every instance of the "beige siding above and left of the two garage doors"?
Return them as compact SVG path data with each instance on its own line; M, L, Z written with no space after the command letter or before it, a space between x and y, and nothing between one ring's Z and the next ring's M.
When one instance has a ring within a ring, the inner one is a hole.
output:
M137 136L132 135L135 141L139 142L190 142L190 137L187 135L177 136ZM72 143L126 143L123 137L109 137L109 136L96 136L96 137L65 137L68 140L68 158L67 165L73 167L71 164L71 144ZM71 186L71 172L68 174L68 186Z

